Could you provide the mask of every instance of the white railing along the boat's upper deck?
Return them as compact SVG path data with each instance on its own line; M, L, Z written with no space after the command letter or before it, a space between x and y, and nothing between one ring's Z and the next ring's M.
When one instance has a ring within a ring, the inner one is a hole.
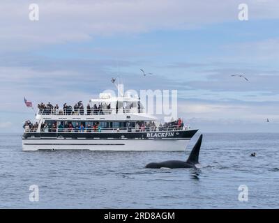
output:
M38 109L40 115L108 115L108 114L135 114L142 113L143 109Z

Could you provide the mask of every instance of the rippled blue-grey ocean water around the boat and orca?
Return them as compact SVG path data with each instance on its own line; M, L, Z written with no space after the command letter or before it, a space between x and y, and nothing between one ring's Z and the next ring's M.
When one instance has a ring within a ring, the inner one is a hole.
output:
M185 152L22 152L20 134L0 134L0 208L279 208L279 134L205 133L201 169L144 168L186 160L198 136Z

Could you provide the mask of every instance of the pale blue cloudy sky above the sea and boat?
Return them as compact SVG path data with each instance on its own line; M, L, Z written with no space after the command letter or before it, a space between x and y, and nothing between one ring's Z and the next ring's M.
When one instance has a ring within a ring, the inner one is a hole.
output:
M177 90L179 116L201 132L279 132L279 1L2 0L0 27L2 133L34 118L24 97L85 104L112 77Z

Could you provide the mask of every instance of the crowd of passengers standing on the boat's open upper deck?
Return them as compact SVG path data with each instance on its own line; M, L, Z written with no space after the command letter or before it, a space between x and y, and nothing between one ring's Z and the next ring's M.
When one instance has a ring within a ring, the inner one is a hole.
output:
M50 102L45 105L43 102L38 104L38 109L40 110L40 114L66 114L66 115L84 115L84 105L82 101L77 102L73 107L71 105L67 105L67 103L63 104L63 107L59 109L59 105L53 106ZM110 112L111 106L107 103L101 103L100 105L94 104L93 107L90 104L86 106L86 114L104 114L104 110L106 112Z

